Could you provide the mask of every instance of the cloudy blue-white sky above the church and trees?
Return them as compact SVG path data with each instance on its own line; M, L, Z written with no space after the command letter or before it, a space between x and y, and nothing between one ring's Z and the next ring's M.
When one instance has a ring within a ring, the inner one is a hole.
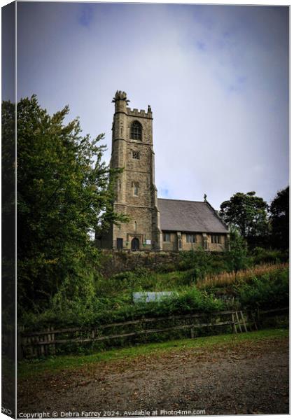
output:
M69 104L109 162L124 90L153 111L158 197L270 202L289 176L288 31L283 6L21 2L18 98Z

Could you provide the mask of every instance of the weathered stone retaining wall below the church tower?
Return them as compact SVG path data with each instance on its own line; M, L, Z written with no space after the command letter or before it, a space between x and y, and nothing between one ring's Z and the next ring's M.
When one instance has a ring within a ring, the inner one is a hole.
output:
M165 251L102 251L102 275L109 277L124 271L140 267L160 269L167 265L177 265L180 254Z

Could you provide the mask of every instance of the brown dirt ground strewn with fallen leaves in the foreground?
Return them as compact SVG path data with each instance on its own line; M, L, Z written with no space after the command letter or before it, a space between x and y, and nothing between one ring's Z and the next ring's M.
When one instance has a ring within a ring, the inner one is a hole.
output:
M18 413L285 414L288 381L288 339L174 349L24 379Z

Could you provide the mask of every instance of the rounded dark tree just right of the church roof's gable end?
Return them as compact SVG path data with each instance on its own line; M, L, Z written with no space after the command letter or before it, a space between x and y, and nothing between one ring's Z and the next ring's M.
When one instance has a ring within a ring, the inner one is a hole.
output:
M236 193L223 202L220 216L232 228L237 228L244 238L267 234L267 203L256 197L254 191Z

